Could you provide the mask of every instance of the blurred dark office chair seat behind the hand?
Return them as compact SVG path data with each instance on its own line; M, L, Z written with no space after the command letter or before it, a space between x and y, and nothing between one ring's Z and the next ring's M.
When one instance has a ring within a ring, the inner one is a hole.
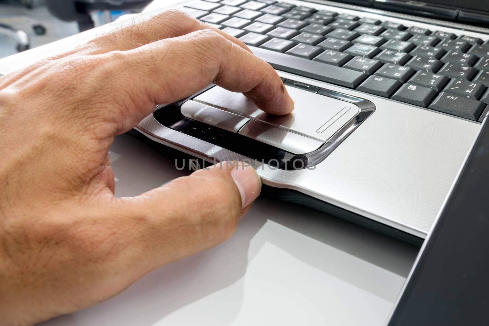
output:
M91 13L141 9L152 0L45 0L49 12L65 22L78 22L80 32L95 26ZM110 18L107 19L107 22Z

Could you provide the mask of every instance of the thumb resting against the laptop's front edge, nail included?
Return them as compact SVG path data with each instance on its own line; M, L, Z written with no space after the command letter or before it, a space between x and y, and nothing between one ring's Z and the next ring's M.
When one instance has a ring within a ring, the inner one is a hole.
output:
M222 162L141 196L119 198L118 223L130 223L134 231L123 251L123 267L138 266L145 274L221 243L233 234L260 191L253 167Z

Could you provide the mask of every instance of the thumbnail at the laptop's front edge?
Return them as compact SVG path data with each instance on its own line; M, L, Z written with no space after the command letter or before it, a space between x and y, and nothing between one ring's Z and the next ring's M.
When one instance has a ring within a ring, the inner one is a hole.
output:
M232 168L231 177L240 191L242 209L255 200L262 190L262 181L252 166L239 162Z

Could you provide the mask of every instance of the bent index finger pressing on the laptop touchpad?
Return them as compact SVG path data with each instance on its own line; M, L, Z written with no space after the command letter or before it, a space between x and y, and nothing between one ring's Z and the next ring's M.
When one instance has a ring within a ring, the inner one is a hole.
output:
M144 108L138 105L137 110L111 117L123 126L119 132L133 128L152 112L155 104L175 102L210 83L242 92L268 113L287 114L294 108L282 80L270 65L214 30L196 31L116 53L115 61L124 69L120 78L131 81L123 93L129 94L134 103L150 100Z

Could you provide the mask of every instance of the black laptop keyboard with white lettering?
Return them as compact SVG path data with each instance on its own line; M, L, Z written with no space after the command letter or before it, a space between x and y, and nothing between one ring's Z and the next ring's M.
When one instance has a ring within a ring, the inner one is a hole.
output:
M180 8L275 69L472 121L489 110L489 42L274 0Z

